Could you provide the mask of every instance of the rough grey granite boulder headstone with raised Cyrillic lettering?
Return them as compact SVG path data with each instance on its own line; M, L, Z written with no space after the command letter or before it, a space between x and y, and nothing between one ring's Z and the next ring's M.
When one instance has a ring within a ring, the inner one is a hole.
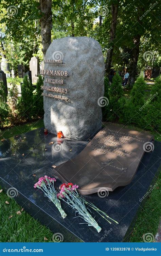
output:
M104 95L104 58L100 44L88 37L56 39L45 59L62 59L63 64L45 63L44 69L68 71L68 77L45 76L44 85L69 90L68 101L43 96L45 127L54 134L61 130L69 139L88 139L102 126L101 106L97 102ZM49 84L46 78L63 79L64 85ZM51 92L44 90L44 93Z

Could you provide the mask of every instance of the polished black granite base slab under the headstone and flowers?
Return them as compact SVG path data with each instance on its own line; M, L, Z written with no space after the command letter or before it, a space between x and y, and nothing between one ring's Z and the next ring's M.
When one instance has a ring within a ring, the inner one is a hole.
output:
M22 142L17 142L20 138ZM56 143L49 145L50 142ZM0 185L5 191L12 186L16 188L18 195L14 199L34 218L48 226L53 233L61 233L66 242L126 241L135 224L137 214L141 209L140 206L143 204L140 199L157 178L161 143L155 142L154 151L144 154L137 174L128 186L117 188L113 192L109 192L109 195L104 198L100 198L97 194L85 196L87 200L93 202L107 212L111 218L119 222L119 225L110 225L99 215L92 213L102 227L100 233L86 224L79 225L82 223L82 219L74 218L75 214L64 202L62 202L62 207L65 209L67 217L63 220L55 206L48 201L48 198L44 197L40 190L33 187L39 177L43 175L54 176L52 165L58 166L63 162L72 160L84 149L87 143L63 139L60 144L52 134L44 135L43 129L1 141ZM60 183L57 181L55 185L59 187Z

